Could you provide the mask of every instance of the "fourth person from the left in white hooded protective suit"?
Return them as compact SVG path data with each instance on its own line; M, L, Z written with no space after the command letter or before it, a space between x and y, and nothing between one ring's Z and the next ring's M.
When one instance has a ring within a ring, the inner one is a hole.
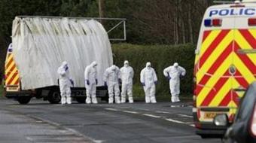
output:
M122 81L121 103L126 102L126 93L130 103L133 103L133 68L126 60L123 62L123 67L120 68L120 78Z

